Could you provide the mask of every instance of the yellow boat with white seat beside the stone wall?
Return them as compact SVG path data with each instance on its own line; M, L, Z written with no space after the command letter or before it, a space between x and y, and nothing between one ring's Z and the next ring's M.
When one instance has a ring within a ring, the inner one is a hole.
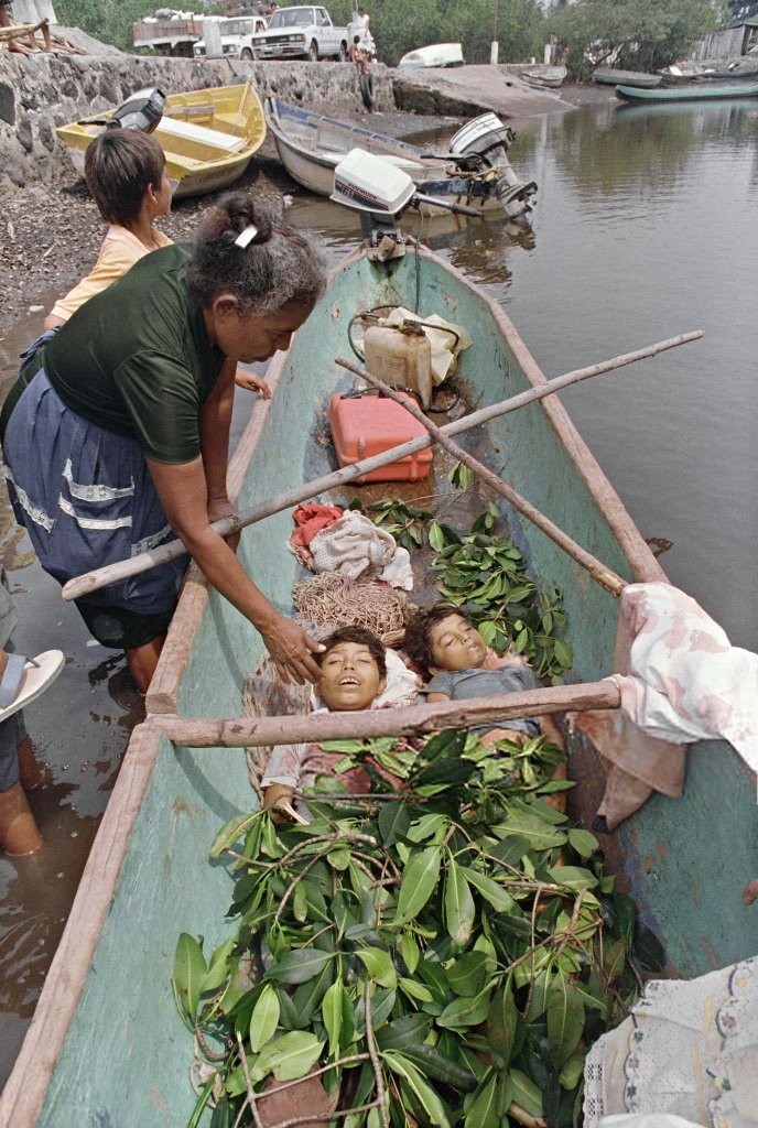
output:
M98 114L97 121L111 117ZM102 132L95 121L55 131L83 174L85 153ZM261 99L249 82L188 94L170 94L152 134L166 153L175 200L218 192L237 180L266 136Z

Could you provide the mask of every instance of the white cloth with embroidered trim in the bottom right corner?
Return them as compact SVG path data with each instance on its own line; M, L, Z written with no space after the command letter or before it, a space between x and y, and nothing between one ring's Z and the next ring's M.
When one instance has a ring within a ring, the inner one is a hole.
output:
M629 1112L756 1128L758 959L649 982L631 1016L591 1048L584 1083L584 1128L614 1125L616 1116L625 1125Z

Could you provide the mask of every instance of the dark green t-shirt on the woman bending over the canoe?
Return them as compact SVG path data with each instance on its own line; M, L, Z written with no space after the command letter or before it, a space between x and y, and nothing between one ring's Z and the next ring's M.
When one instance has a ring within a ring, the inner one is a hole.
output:
M81 306L44 350L63 403L135 438L157 462L200 455L201 408L223 362L190 293L188 257L186 244L146 255Z

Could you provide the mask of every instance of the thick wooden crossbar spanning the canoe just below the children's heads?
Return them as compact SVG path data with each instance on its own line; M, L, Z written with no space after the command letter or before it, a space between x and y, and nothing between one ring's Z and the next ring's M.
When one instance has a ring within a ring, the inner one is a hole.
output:
M622 695L616 682L591 681L553 686L522 694L497 694L465 702L407 705L403 708L361 710L355 713L311 713L294 716L185 719L150 714L148 723L185 748L253 748L297 744L302 741L356 740L370 737L418 737L446 729L469 729L525 716L545 716L566 710L616 710Z

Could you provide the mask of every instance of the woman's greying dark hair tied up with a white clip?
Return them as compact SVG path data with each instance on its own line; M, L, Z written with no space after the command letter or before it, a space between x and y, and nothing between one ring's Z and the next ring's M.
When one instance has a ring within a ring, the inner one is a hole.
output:
M232 293L243 317L266 317L288 306L312 306L326 287L326 266L297 228L232 192L201 223L187 280L203 307Z

